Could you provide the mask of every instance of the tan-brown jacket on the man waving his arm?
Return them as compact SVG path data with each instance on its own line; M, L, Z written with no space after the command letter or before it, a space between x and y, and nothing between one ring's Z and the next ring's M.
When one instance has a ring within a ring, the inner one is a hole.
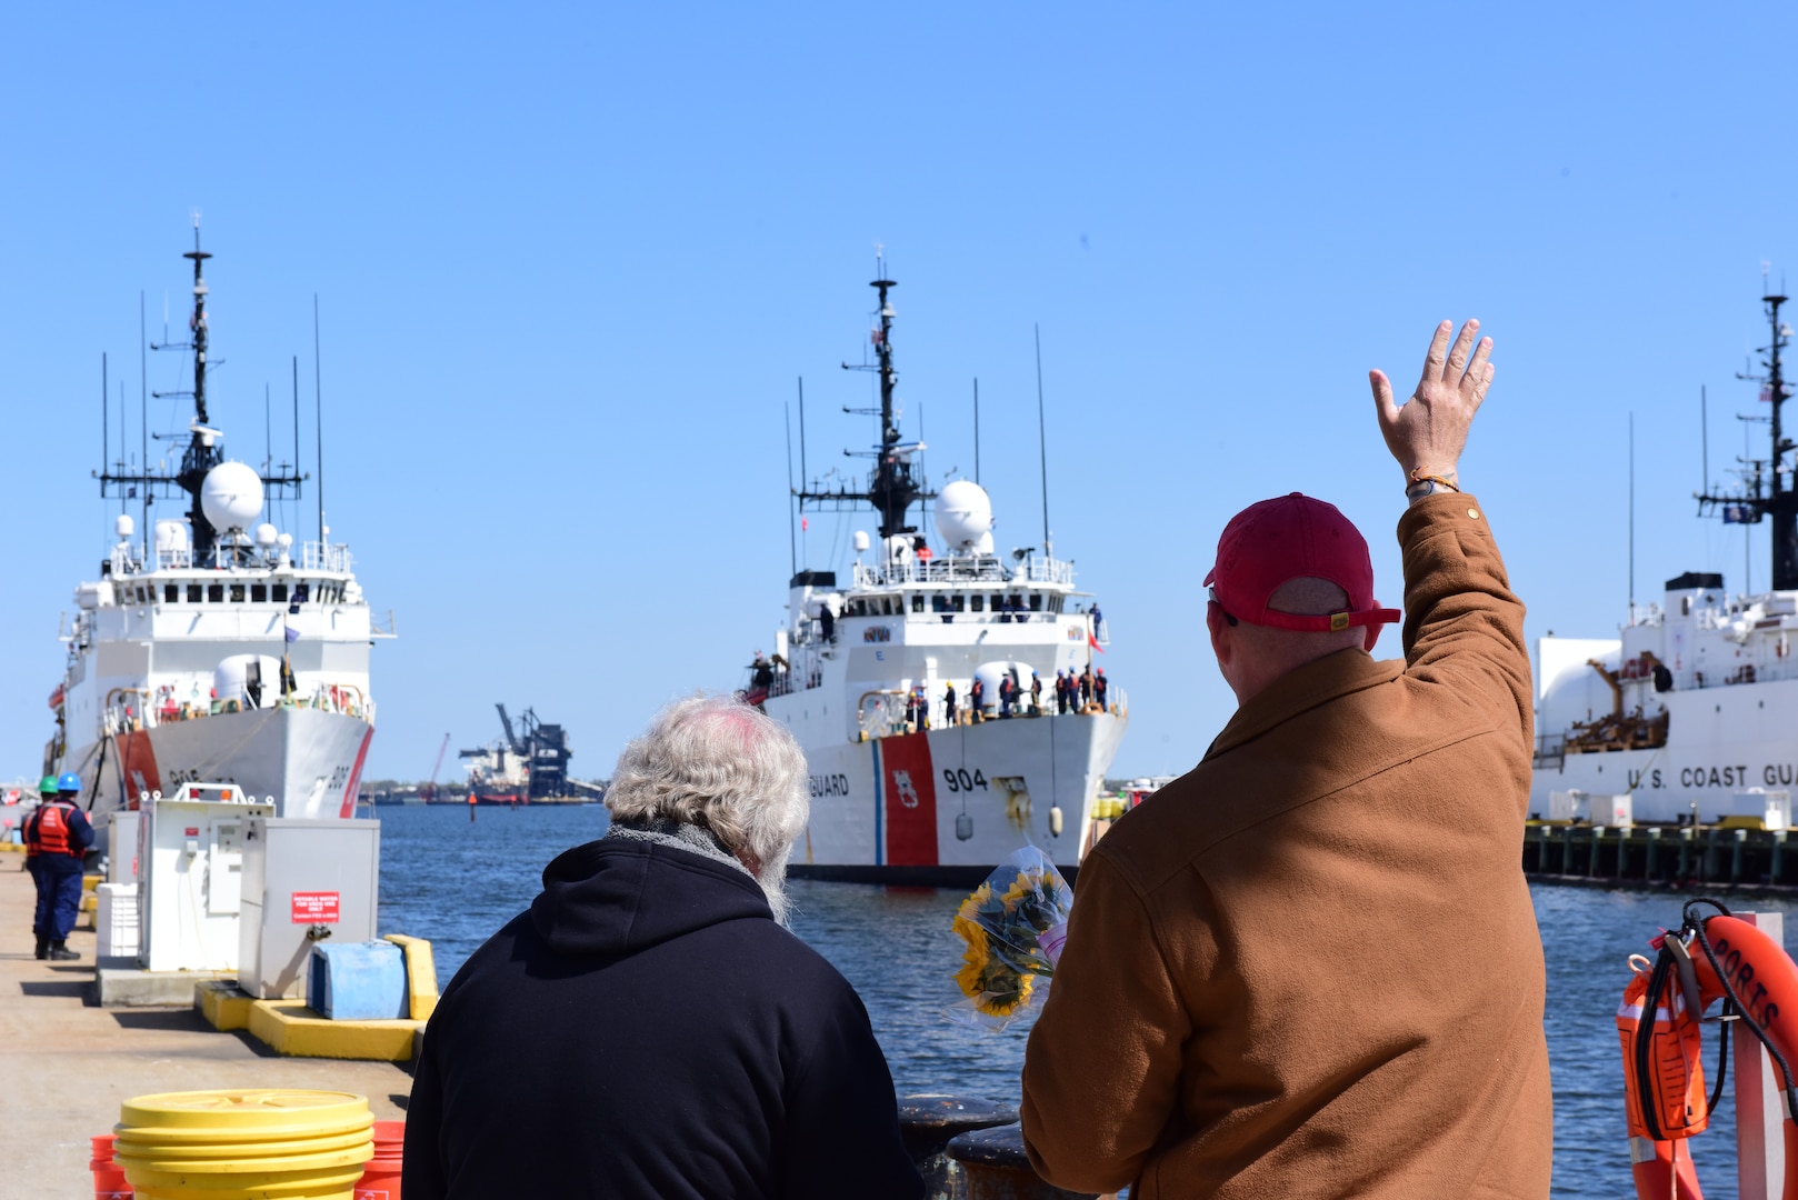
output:
M1052 1184L1548 1195L1523 604L1471 495L1399 543L1404 662L1286 675L1081 867L1023 1072Z

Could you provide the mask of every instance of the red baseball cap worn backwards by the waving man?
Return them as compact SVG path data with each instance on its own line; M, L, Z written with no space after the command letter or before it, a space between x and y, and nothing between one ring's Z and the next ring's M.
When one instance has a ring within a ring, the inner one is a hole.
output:
M1348 606L1314 617L1268 608L1282 583L1304 578L1329 579L1348 594ZM1379 626L1404 615L1374 599L1374 561L1361 531L1334 504L1296 491L1230 518L1205 585L1226 613L1250 624L1307 631L1366 626L1368 649L1379 640Z

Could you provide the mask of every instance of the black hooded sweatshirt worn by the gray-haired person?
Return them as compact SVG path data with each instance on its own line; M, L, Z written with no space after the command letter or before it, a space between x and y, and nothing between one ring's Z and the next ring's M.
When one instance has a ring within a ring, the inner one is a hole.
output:
M602 838L457 972L406 1112L406 1200L915 1200L867 1009L744 871Z

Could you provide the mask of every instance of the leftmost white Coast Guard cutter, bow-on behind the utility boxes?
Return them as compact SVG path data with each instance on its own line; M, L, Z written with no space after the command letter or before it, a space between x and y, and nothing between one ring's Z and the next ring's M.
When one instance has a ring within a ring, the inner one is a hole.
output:
M95 813L137 808L189 781L273 797L282 817L351 817L369 741L372 626L343 545L263 522L264 498L298 498L302 475L225 459L207 419L207 284L194 250L194 421L178 471L108 462L101 495L189 500L133 543L120 513L101 578L76 588L58 730L45 772L81 774ZM180 392L187 394L187 392ZM298 549L298 554L295 554Z

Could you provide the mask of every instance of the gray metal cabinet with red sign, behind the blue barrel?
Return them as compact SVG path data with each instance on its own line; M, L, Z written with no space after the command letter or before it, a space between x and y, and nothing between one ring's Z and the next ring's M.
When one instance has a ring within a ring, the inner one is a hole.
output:
M374 941L379 878L379 820L252 817L237 986L261 1000L304 997L316 941Z

